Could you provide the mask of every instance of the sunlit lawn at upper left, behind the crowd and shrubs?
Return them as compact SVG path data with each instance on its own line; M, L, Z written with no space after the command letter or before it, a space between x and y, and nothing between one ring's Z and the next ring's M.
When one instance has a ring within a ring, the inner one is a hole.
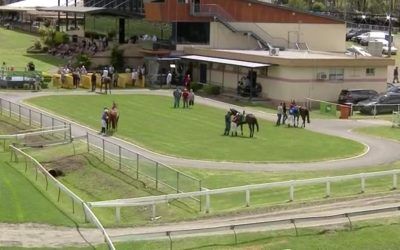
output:
M48 54L27 54L26 49L39 39L38 36L0 28L0 63L6 62L8 67L24 70L32 61L38 71L54 71L66 63L65 59Z

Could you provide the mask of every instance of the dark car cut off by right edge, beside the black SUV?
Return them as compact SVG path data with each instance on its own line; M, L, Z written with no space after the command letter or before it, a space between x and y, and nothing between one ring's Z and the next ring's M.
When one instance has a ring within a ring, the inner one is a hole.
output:
M377 115L400 110L400 94L388 92L357 104L363 114Z

